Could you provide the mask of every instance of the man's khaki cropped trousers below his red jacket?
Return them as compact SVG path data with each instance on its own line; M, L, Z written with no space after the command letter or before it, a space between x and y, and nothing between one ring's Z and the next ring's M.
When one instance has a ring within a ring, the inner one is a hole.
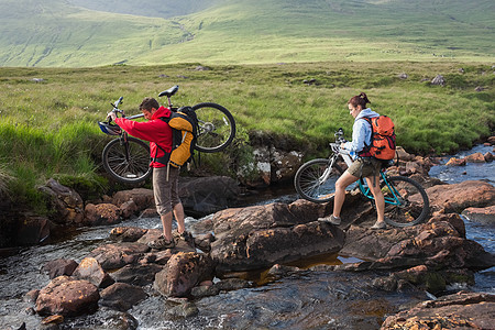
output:
M178 196L178 177L180 168L167 166L153 168L153 194L155 196L156 212L165 216L180 202Z

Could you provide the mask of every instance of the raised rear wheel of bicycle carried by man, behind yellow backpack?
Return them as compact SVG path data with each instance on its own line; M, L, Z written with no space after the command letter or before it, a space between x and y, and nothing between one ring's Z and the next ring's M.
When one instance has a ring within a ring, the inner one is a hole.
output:
M199 103L193 107L198 117L196 150L215 153L224 150L235 136L235 121L232 114L217 103Z

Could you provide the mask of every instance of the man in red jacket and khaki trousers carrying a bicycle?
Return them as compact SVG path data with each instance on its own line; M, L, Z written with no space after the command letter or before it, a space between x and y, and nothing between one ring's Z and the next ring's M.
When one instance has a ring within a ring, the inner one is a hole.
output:
M178 196L178 176L180 168L169 166L168 158L172 152L172 129L160 118L170 117L170 110L161 107L154 98L145 98L140 110L146 122L136 122L125 118L117 118L114 112L108 116L129 134L145 141L150 141L150 154L153 167L153 194L155 196L156 211L163 226L163 237L148 245L153 249L172 249L175 246L172 237L173 215L177 220L177 231L182 239L187 239L188 233L184 223L184 207Z

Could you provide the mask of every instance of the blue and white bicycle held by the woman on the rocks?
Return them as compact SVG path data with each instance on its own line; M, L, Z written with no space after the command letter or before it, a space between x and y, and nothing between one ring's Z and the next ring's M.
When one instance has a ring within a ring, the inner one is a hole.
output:
M334 193L337 179L344 168L352 164L351 155L340 145L345 142L343 130L336 134L336 143L330 143L328 158L317 158L302 164L294 177L296 191L312 202L327 202ZM405 176L388 176L385 164L380 172L381 187L385 197L385 222L394 227L409 227L424 221L429 213L429 200L425 189L414 179ZM373 200L365 180L358 180L360 191Z

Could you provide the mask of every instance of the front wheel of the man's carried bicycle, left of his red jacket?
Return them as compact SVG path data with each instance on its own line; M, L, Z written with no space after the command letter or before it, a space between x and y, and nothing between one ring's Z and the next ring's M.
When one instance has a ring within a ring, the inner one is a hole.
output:
M139 184L152 174L150 146L143 141L128 136L110 141L103 148L103 168L112 178L123 184Z

